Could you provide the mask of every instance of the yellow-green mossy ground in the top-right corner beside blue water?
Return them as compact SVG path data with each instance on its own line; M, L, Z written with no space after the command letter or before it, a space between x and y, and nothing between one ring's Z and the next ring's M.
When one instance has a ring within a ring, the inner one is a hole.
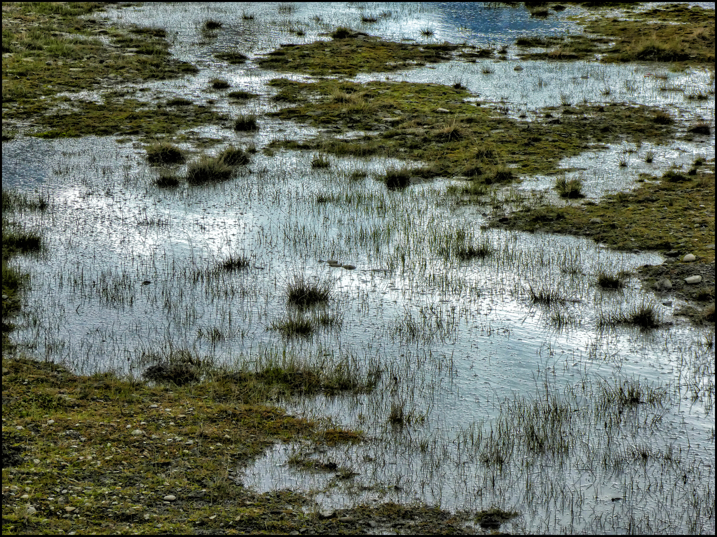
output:
M609 4L609 3L608 3ZM601 7L614 7L602 4ZM531 59L585 59L602 54L603 62L680 62L714 64L714 9L687 4L636 11L625 4L625 17L574 16L586 32L599 37L528 37L516 42L524 47L546 47L546 52L526 52Z

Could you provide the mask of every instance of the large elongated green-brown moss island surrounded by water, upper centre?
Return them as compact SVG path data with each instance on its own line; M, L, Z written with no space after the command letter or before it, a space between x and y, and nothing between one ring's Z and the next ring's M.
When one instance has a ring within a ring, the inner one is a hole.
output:
M422 160L432 163L432 175L470 175L489 184L555 172L561 158L623 136L659 143L675 133L673 125L655 122L659 110L643 105L548 107L543 121L528 123L501 115L494 105L476 106L465 89L441 84L288 79L270 84L297 103L270 115L376 133L346 140L275 140L272 147Z

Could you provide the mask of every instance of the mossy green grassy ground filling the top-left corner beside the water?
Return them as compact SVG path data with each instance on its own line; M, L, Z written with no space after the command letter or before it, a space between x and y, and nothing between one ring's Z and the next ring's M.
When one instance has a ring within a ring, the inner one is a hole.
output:
M108 29L97 19L78 18L102 11L104 4L87 2L67 7L25 2L5 7L4 119L37 122L44 127L37 135L44 137L108 135L120 130L155 134L209 120L206 116L190 120L184 114L145 110L146 103L123 97L108 97L102 105L74 100L70 114L58 114L58 107L70 104L67 97L57 97L58 92L92 90L98 79L107 81L110 87L118 77L142 82L194 74L197 69L171 57L162 29ZM98 39L100 34L118 48L105 46Z

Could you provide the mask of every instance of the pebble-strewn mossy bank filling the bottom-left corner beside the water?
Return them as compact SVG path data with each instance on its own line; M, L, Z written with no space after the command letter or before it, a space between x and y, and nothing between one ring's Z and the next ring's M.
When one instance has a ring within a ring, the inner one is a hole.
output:
M331 447L363 437L250 402L254 393L262 398L265 377L151 386L22 358L4 358L2 367L4 534L474 531L465 528L467 515L439 508L322 511L308 495L244 489L241 468L274 442ZM313 471L337 479L361 471L325 466ZM512 516L501 513L478 517Z

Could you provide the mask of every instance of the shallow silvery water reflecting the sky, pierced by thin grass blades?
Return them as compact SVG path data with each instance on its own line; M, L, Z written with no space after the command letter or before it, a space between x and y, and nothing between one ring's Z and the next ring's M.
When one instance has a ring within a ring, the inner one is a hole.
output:
M219 98L219 110L235 114L249 107L262 113L275 110L264 84L276 74L251 61L217 64L211 52L238 47L259 54L280 42L313 41L338 24L360 24L353 6L295 6L285 15L275 4L147 4L108 10L107 16L176 32L174 54L202 69L189 79L142 84L152 89L151 98L214 98L206 81L221 70L235 89L264 96L244 107ZM419 32L426 26L435 30L434 40L483 45L574 31L564 16L541 21L518 8L367 4L363 9L392 11L362 27L392 39L423 39ZM254 21L244 21L242 10L252 11ZM311 20L315 14L323 17L321 23ZM227 21L226 31L196 44L202 39L199 26L209 17ZM286 32L292 24L305 28L305 37ZM675 115L679 110L685 124L695 117L713 120L712 97L695 103L683 92L661 91L646 76L655 66L521 62L513 49L508 61L492 63L490 75L480 72L480 64L448 62L389 77L447 84L460 79L481 100L503 99L511 115L559 105L563 91L575 102L669 107ZM516 64L523 72L513 71ZM670 73L669 82L713 90L713 79L699 70ZM606 84L614 92L604 97ZM284 355L326 367L344 362L359 372L378 364L381 384L369 395L282 401L290 411L364 430L368 442L311 455L351 466L359 475L339 483L333 474L294 470L288 456L308 448L277 445L255 465L237 469L244 483L258 490L309 490L318 503L333 506L394 499L451 509L516 508L521 516L504 531L624 531L627 520L642 531L714 531L713 513L697 512L689 503L694 490L699 505L709 505L710 498L713 505L714 354L705 343L713 342L713 332L673 319L678 304L665 306L652 296L647 300L674 324L652 332L597 328L601 313L645 300L636 279L620 291L597 289L597 273L660 263L659 254L616 253L584 238L485 230L490 208L453 206L445 196L450 180L390 192L375 178L400 164L397 160L329 157L330 171L318 171L307 152L281 150L267 157L261 149L277 133L300 139L317 131L267 118L259 123L255 135L196 129L227 142L251 140L260 152L237 178L174 190L153 185L157 172L138 143L118 144L113 137L4 142L4 188L49 193L54 204L49 215L26 218L29 227L42 231L47 253L22 259L33 276L32 290L24 295L28 313L14 332L21 348L85 373L115 369L139 375L148 354L177 348L212 354L233 367ZM194 150L189 143L183 148ZM614 160L626 149L615 145L561 165L585 168L587 193L597 199L606 191L632 188L640 171L657 175L695 155L713 158L714 138L632 147L637 154L628 155L634 160L627 169L618 168ZM639 155L649 149L656 157L647 165ZM368 177L349 179L357 169ZM552 181L526 178L519 190L545 190ZM490 241L493 256L443 258L437 245L458 228L476 241ZM229 253L243 253L251 266L207 276ZM356 269L332 269L324 262L329 258ZM285 284L295 274L333 281L327 310L342 321L341 329L319 329L308 339L285 339L267 329L293 313ZM564 304L533 304L531 286L558 289ZM556 326L558 313L564 326ZM223 337L206 336L214 329ZM637 405L625 417L621 410L614 433L602 427L602 414L581 410L596 405L602 382L630 379L663 387L669 402ZM475 447L467 440L470 434L488 435L503 422L522 427L509 403L514 397L540 400L546 386L573 405L574 422L559 435L574 442L570 456L551 458L518 446L513 459L486 464L485 439ZM387 417L396 405L420 419L409 427L391 426ZM644 464L634 462L630 450L636 447L652 453ZM666 466L665 454L673 450L680 463ZM597 460L602 455L627 462ZM675 485L683 471L688 479ZM670 490L671 499L655 487ZM616 497L625 500L613 501Z

